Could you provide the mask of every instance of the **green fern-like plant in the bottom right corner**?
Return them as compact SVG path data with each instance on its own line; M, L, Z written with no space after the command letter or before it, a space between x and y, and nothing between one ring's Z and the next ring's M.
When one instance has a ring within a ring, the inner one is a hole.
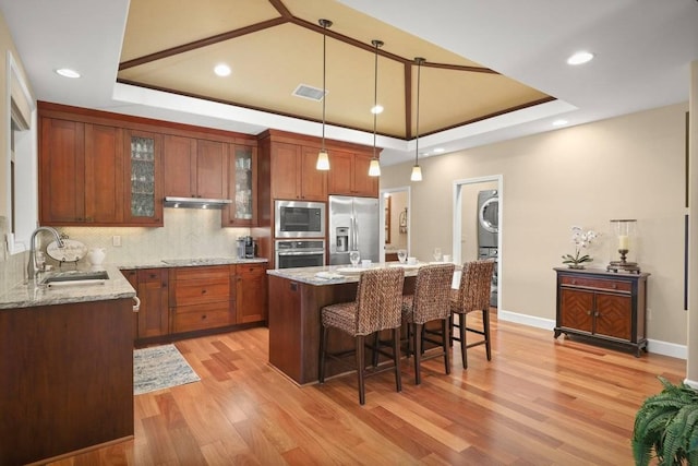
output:
M698 465L698 391L658 378L664 389L642 403L635 416L633 456L647 466Z

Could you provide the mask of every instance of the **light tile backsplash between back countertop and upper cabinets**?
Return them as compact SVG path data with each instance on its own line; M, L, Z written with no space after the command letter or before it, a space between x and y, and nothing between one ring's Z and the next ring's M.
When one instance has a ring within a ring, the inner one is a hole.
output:
M238 237L250 235L250 228L221 228L220 211L194 208L166 208L161 228L59 227L57 230L85 243L87 249L105 248L104 262L122 265L163 259L232 256ZM121 237L120 247L113 246L115 236Z

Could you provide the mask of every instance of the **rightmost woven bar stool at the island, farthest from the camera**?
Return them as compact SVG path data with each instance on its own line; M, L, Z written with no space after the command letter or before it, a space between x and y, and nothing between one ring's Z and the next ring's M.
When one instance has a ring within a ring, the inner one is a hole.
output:
M495 262L492 260L466 262L462 266L460 286L450 290L450 339L460 342L462 368L468 368L468 348L485 345L488 361L492 360L490 343L490 291ZM482 330L469 327L466 315L470 312L482 312ZM459 315L458 324L454 322L455 314ZM454 327L458 327L459 336L454 335ZM484 338L473 343L466 342L466 332L482 335Z

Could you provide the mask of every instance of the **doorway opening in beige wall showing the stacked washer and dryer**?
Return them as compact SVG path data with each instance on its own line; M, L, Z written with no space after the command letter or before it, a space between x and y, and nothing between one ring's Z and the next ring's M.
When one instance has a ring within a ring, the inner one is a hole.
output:
M454 181L453 251L458 264L478 259L497 263L491 306L502 302L502 175ZM456 283L456 280L454 280Z

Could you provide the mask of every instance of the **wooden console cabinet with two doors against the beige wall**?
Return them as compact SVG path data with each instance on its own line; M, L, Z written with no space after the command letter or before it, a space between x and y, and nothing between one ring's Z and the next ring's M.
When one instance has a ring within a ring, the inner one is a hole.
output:
M646 307L649 274L555 268L561 334L633 350L647 350Z

